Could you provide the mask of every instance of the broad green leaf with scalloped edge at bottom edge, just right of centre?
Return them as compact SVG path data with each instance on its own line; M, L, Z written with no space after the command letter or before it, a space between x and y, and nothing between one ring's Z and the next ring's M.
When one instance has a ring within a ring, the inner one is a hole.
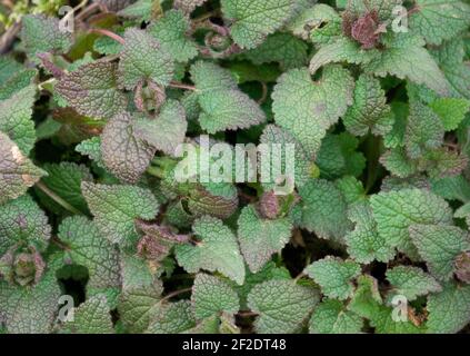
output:
M299 332L318 301L316 289L292 280L268 280L254 286L248 295L248 307L259 314L254 322L259 334Z

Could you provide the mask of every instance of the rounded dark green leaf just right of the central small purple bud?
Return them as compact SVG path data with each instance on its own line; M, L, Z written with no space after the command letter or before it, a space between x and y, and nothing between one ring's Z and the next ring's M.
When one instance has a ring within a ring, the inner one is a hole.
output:
M320 238L342 239L349 228L347 206L334 184L311 179L299 189L302 199L302 227Z

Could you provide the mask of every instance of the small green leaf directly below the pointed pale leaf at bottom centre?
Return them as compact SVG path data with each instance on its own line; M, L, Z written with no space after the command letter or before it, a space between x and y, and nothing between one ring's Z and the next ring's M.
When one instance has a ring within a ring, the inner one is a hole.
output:
M221 312L234 314L240 309L240 300L230 284L207 274L196 276L191 303L197 319L203 319Z

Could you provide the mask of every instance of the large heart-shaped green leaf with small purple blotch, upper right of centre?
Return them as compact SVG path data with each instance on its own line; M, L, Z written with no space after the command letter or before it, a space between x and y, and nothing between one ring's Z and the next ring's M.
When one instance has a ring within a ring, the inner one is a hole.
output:
M318 82L307 69L290 70L278 79L272 93L276 123L313 157L327 129L352 103L353 86L349 71L336 66L326 68Z

